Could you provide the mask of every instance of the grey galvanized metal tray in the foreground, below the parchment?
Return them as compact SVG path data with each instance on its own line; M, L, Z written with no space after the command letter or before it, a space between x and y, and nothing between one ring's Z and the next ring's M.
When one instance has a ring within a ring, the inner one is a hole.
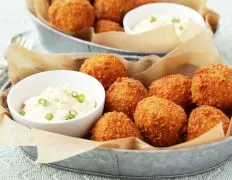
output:
M9 81L3 89L10 86ZM21 147L36 159L36 147ZM113 178L152 179L190 176L214 169L232 158L232 137L195 148L137 151L95 149L63 161L48 164L92 175Z

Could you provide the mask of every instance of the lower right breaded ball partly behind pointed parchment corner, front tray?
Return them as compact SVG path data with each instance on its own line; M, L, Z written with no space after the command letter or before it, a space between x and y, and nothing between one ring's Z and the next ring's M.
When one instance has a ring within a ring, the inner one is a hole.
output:
M187 140L192 140L206 133L220 122L222 122L226 134L230 120L221 110L207 105L194 109L188 120Z

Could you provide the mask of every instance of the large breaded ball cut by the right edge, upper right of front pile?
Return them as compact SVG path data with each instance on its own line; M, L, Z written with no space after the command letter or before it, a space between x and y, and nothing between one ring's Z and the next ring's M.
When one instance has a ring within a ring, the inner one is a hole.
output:
M232 70L226 65L200 68L192 79L192 99L198 106L229 108L232 106L231 89Z

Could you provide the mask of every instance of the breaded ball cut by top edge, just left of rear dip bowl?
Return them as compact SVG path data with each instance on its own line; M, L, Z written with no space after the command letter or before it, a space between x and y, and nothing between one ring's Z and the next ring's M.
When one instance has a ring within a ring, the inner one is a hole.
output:
M95 0L94 7L98 19L121 22L135 4L135 0Z

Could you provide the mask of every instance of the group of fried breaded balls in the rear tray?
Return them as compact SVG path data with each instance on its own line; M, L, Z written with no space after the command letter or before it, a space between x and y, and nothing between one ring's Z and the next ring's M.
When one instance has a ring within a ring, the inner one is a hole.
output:
M124 31L125 14L138 6L157 0L53 0L48 10L49 22L66 32L94 27L96 33Z

